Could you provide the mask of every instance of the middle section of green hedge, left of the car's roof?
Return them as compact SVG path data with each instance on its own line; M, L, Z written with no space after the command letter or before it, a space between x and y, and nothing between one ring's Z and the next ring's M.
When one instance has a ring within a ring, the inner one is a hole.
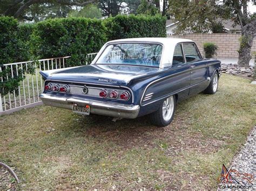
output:
M88 53L98 52L106 41L101 20L60 18L39 22L32 34L31 46L36 58L71 55L69 66L83 65Z

